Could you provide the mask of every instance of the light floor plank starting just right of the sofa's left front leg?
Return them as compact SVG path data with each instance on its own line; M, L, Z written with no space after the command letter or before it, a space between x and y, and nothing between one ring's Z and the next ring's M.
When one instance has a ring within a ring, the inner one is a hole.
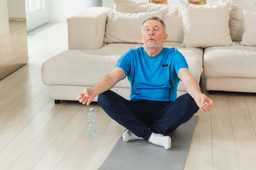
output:
M11 169L32 169L51 148L80 107L74 103L61 103L61 105L63 106L51 122L36 136L28 148L14 162Z

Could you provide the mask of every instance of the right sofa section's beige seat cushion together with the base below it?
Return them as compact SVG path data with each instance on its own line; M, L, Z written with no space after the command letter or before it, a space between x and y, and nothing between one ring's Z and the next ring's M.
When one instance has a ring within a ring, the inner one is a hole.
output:
M204 75L207 90L256 92L256 46L205 48Z

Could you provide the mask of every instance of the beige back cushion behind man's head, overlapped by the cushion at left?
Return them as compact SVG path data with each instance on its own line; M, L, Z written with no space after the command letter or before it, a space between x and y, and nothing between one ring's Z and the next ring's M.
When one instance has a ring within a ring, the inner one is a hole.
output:
M136 0L113 0L113 3L115 4L115 11L122 13L163 11L162 19L168 34L166 41L183 41L182 13L179 5L154 4Z

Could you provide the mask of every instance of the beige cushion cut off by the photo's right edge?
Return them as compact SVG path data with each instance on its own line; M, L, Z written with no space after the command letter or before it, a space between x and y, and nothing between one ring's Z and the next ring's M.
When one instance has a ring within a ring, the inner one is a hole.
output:
M244 33L241 45L256 46L256 12L243 11Z

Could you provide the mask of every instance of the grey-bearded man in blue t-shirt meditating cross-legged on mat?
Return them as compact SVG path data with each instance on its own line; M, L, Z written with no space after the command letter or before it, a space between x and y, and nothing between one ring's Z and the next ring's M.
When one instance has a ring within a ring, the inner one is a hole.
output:
M92 88L84 89L77 99L89 105L99 95L103 110L127 129L124 141L145 139L169 149L171 139L164 134L187 122L198 108L203 112L211 110L213 102L201 92L177 48L163 47L167 34L161 18L148 18L141 31L144 48L124 53L111 73ZM109 90L126 76L131 83L130 101ZM179 80L188 94L177 98Z

